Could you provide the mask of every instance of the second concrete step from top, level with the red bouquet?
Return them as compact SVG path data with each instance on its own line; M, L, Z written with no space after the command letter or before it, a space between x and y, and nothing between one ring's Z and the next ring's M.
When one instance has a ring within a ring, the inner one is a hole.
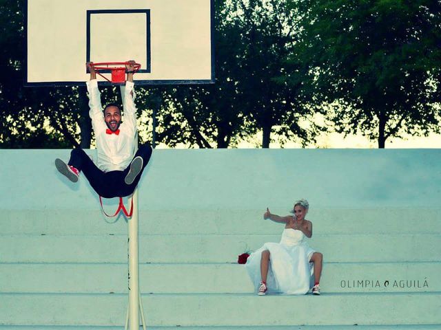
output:
M141 263L234 263L248 247L278 242L280 235L140 236ZM327 262L441 261L435 234L326 234L309 245ZM0 263L125 263L127 236L2 235Z

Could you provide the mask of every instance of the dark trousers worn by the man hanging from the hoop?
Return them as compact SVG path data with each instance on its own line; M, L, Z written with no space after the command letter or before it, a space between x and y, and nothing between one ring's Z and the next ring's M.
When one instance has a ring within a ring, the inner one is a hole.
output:
M70 153L69 165L81 170L88 179L90 186L104 198L125 197L132 195L136 185L141 178L141 174L152 155L152 147L150 144L143 144L136 151L134 157L141 156L143 158L143 169L141 173L136 176L132 184L125 184L124 179L129 173L130 165L125 170L111 170L110 172L103 172L100 170L87 153L81 148L72 149Z

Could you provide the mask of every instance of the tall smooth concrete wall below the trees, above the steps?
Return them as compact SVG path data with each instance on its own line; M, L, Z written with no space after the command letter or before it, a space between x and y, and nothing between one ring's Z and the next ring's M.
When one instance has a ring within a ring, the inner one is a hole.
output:
M54 159L68 155L1 150L2 208L95 209L85 177L72 184L57 173ZM439 149L155 150L141 179L140 209L289 210L301 197L311 210L436 208L440 159Z

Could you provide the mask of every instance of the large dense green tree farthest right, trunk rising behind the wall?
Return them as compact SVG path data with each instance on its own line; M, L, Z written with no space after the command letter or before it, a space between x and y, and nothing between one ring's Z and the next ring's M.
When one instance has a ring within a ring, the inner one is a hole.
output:
M361 132L379 148L403 133L440 131L439 110L429 102L438 85L440 1L293 0L291 6L302 13L291 63L300 58L307 65L316 104L337 102L330 118L336 131Z

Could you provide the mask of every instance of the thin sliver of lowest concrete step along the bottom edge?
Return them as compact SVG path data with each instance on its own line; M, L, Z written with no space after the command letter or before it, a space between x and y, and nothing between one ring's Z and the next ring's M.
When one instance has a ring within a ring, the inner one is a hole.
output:
M207 326L207 327L150 327L149 330L440 330L440 325L274 325L274 326ZM2 326L0 330L121 330L119 327L101 326ZM141 328L140 328L141 329Z

